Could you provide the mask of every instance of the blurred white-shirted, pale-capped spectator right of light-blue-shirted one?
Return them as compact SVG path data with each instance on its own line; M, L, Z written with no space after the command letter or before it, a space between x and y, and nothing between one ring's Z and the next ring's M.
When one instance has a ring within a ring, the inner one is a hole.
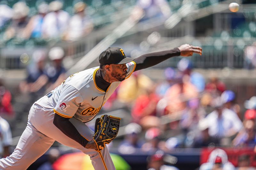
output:
M51 11L44 17L43 22L43 36L45 38L58 38L62 37L62 34L67 30L69 22L69 14L66 11L61 10L63 3L55 0L49 4L49 10Z

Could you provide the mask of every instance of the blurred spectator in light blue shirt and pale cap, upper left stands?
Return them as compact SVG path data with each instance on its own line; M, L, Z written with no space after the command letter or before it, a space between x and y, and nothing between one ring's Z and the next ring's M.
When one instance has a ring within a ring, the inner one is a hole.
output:
M48 8L48 4L46 4L45 2L42 2L38 5L38 14L30 18L28 25L24 30L25 38L42 38L42 26L44 22L44 17L48 13Z

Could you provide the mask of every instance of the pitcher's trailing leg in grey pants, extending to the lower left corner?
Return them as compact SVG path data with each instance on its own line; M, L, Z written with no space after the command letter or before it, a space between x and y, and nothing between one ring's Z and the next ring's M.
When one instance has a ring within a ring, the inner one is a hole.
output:
M28 121L14 152L9 157L0 159L0 169L27 169L51 147L53 142L54 139L39 132Z

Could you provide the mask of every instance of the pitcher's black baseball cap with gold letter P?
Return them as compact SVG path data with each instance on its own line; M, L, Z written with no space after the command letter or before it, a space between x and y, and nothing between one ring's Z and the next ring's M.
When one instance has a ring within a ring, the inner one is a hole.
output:
M124 50L118 47L109 47L99 56L101 65L107 64L125 64L133 61L135 58L126 57Z

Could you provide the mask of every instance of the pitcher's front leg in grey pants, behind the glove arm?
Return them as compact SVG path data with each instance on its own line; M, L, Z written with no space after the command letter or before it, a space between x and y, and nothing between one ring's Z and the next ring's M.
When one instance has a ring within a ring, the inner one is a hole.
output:
M51 114L51 113L49 112L48 114ZM36 119L38 119L38 121L36 121L37 124L35 125L36 129L38 129L40 132L44 133L48 137L53 138L54 140L56 140L57 142L63 145L79 149L85 154L89 155L95 170L104 170L104 169L114 170L115 169L115 166L112 162L112 159L110 157L110 154L107 148L105 148L101 152L96 152L93 149L84 148L75 140L67 137L64 133L62 133L60 129L58 129L53 124L53 116L52 116L52 119L48 119L50 117L48 114L44 113L44 115L42 115L41 117L40 116L36 117ZM69 121L76 127L78 132L81 135L83 135L87 140L92 139L92 134L94 134L94 132L90 128L88 128L87 125L85 125L83 122L75 118L71 118ZM44 122L44 123L41 123L41 122Z

